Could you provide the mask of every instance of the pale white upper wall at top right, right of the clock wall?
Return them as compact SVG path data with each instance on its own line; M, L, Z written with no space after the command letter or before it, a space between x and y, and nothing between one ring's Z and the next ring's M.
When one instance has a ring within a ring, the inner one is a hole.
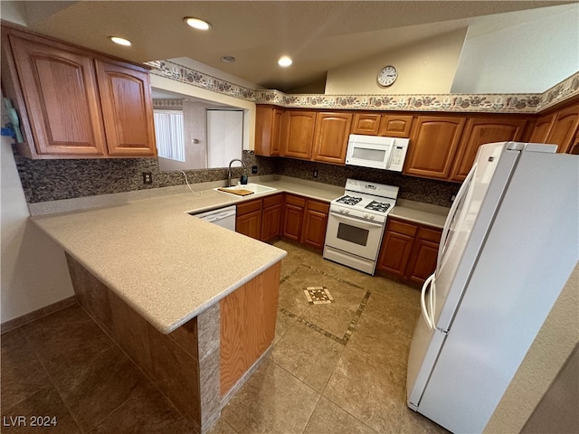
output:
M451 93L541 93L579 71L579 5L502 25L469 28Z

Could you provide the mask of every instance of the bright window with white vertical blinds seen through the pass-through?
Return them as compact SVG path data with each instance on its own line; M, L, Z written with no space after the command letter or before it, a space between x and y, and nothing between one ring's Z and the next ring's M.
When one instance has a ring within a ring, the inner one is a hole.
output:
M158 156L185 161L183 111L154 110L153 117Z

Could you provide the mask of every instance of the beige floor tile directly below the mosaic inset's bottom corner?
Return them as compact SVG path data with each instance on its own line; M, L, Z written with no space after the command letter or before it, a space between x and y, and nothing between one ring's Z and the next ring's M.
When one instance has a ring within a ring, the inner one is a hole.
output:
M271 359L318 392L336 368L344 345L296 323L275 345Z

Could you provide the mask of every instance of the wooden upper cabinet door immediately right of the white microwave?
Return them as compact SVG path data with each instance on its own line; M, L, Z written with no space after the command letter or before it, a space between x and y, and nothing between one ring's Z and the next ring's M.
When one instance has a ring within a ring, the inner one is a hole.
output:
M403 173L448 179L465 122L460 117L416 118Z

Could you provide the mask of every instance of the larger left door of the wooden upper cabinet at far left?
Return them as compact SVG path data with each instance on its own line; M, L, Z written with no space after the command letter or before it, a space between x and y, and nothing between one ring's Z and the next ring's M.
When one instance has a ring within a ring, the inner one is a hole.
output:
M102 156L105 137L92 59L33 36L9 38L35 152Z

